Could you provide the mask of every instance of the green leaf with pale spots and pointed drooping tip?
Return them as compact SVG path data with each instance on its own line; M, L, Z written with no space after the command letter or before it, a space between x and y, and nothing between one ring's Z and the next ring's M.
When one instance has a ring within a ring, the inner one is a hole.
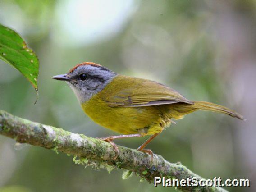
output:
M0 59L18 69L37 91L39 61L32 49L12 29L0 24Z

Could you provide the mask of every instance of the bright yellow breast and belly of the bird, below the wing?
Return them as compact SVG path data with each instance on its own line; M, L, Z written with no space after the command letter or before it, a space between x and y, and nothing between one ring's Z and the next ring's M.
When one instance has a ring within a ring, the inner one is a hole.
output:
M97 94L83 103L82 109L94 122L122 134L135 134L148 128L147 135L152 135L170 124L169 118L164 118L156 106L110 107Z

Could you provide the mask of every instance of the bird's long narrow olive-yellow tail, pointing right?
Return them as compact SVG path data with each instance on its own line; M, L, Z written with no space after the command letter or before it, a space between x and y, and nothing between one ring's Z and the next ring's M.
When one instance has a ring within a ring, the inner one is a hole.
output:
M214 111L219 113L228 114L232 117L236 117L241 120L245 120L241 114L238 114L237 112L230 110L229 108L226 108L221 105L217 105L214 103L206 102L206 101L194 101L193 105L190 105L192 108L196 108L199 110L208 110L208 111Z

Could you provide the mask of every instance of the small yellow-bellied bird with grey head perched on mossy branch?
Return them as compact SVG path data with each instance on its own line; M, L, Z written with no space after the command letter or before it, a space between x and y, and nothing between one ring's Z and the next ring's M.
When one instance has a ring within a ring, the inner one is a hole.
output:
M82 110L96 123L123 135L103 137L110 142L126 137L144 137L137 148L149 154L146 145L173 122L196 110L228 114L244 120L242 115L224 106L205 101L190 101L161 83L119 75L92 62L76 65L68 73L53 77L66 81L78 98Z

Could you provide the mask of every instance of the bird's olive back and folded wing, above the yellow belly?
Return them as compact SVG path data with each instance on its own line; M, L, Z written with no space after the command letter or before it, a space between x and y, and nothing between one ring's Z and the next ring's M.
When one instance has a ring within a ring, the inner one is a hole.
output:
M115 77L105 87L104 92L103 100L111 107L139 107L178 102L193 104L192 101L163 84L121 75Z

